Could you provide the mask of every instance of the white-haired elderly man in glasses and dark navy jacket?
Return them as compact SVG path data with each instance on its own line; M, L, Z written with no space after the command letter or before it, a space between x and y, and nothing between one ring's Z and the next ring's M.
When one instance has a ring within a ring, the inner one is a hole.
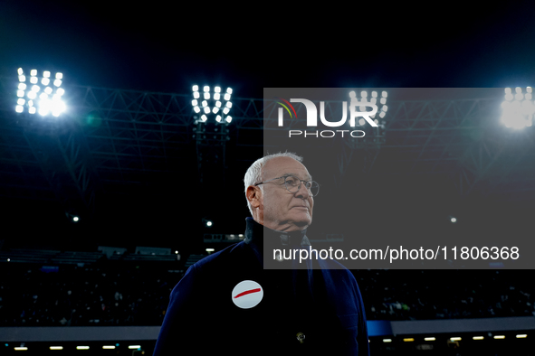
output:
M246 219L244 241L187 270L171 293L154 355L369 354L364 306L349 270L332 260L272 258L273 248L310 248L306 230L319 186L301 161L268 155L248 169L253 219ZM277 263L286 267L266 268Z

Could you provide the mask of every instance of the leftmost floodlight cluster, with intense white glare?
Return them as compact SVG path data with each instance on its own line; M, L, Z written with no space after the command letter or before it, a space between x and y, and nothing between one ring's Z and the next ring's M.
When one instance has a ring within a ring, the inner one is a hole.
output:
M30 78L26 78L24 70L18 69L19 84L16 92L17 101L15 111L24 112L24 108L30 114L38 112L42 116L50 113L54 117L59 117L65 111L65 103L62 95L65 90L62 86L62 73L51 76L50 71L44 70L43 76L37 76L37 70L30 70Z

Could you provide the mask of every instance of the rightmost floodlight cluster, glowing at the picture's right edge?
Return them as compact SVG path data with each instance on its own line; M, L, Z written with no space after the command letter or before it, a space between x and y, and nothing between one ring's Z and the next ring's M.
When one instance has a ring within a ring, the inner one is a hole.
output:
M532 89L526 88L523 93L520 87L514 89L505 89L505 100L502 102L502 123L507 127L523 128L533 125L533 114L535 106L533 105Z

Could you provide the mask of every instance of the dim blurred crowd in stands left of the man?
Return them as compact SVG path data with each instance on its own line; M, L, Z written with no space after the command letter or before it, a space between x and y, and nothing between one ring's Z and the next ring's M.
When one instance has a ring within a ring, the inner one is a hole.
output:
M3 265L9 265L0 281L5 326L159 325L183 276L154 266Z

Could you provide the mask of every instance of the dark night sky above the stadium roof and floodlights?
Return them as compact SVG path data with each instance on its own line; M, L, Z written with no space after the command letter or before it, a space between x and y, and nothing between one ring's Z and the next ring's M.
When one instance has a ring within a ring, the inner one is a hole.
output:
M268 87L535 82L535 5L528 1L479 8L123 4L0 2L0 76L46 67L72 84L182 94L220 82L240 98L262 98Z

